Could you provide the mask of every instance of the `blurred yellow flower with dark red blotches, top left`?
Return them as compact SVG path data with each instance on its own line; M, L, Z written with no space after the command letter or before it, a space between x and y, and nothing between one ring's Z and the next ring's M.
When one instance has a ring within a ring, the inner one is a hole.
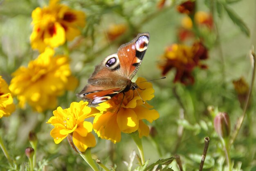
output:
M72 10L58 1L50 0L48 7L37 7L32 12L32 49L43 52L47 46L58 47L81 34L79 27L85 26L83 11Z

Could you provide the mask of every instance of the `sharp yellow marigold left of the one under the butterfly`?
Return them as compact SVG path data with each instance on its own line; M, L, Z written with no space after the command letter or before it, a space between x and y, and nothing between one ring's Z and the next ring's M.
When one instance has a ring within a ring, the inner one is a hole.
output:
M84 121L87 118L94 117L96 109L88 107L88 102L72 102L70 108L62 109L58 107L53 111L47 124L52 124L54 129L51 136L54 142L59 144L67 135L72 135L74 145L80 151L85 151L88 147L94 147L96 140L92 135L92 123Z

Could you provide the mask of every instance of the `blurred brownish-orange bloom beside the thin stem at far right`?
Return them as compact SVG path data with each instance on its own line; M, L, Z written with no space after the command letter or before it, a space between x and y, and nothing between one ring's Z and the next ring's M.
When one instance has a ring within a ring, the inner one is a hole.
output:
M239 78L238 80L234 80L233 84L235 91L238 95L240 106L243 108L245 105L247 95L249 93L249 85L247 84L243 77Z

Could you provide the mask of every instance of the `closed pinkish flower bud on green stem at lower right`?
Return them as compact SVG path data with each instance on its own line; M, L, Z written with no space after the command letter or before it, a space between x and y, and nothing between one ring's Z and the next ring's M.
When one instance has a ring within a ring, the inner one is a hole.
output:
M230 134L229 115L225 112L218 113L214 119L214 128L220 137L227 138Z

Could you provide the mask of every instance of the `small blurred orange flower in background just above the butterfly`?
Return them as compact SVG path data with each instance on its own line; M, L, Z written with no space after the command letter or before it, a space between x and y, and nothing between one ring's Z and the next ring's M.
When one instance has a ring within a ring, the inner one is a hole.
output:
M127 30L126 24L111 24L107 31L107 36L109 40L115 40Z

